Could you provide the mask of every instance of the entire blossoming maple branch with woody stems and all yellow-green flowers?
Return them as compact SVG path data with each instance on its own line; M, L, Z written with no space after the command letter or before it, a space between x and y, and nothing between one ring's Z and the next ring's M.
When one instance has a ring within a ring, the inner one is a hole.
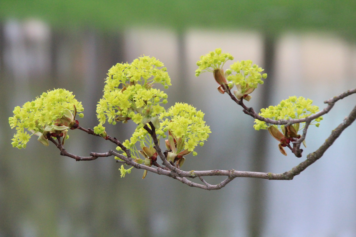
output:
M196 76L202 72L212 72L215 81L219 84L218 91L227 93L230 98L243 108L243 112L255 118L256 130L266 129L279 144L278 149L287 155L287 147L295 156L302 156L300 144L305 146L305 138L310 125L319 126L323 119L321 116L333 108L335 102L345 98L356 89L346 91L324 103L328 106L319 111L312 105L311 99L291 96L282 100L277 106L269 106L256 113L253 108L244 104L250 101L250 95L267 74L261 74L262 68L252 64L251 60L237 61L224 72L223 66L228 60L233 60L231 54L215 49L200 57L197 62L199 68ZM197 111L191 105L176 103L164 109L162 104L167 103L167 94L153 88L155 84L162 84L165 89L171 85L167 69L163 63L154 57L143 56L135 59L131 64L122 63L112 66L105 79L104 95L97 105L96 113L99 120L94 129L85 129L76 119L77 112L82 112L81 102L78 102L72 92L65 89L56 89L42 93L32 102L26 102L22 107L15 107L14 116L9 118L11 128L16 128L12 139L12 146L25 148L31 136L38 136L38 141L48 146L51 141L60 150L62 156L68 156L76 161L95 160L99 157L115 156L117 162L129 165L120 167L121 177L131 173L133 167L143 169L145 178L147 172L166 175L177 179L191 187L207 190L220 189L236 177L253 177L265 179L293 179L309 165L318 160L330 147L341 132L354 122L356 106L343 123L334 129L329 138L315 152L307 156L307 160L293 167L283 174L247 172L231 170L211 171L183 171L182 165L186 156L194 151L197 145L203 146L208 139L210 128L205 124L204 113ZM232 88L236 90L231 92ZM79 117L83 118L83 113ZM137 124L136 130L130 140L120 142L109 136L103 124L106 122L115 125L117 122L128 123L132 120ZM267 125L268 124L268 125ZM304 124L300 128L300 124ZM29 134L27 129L30 131ZM82 157L69 153L64 148L64 142L69 138L69 130L82 130L89 135L102 137L114 143L117 151L110 150L105 153L91 152L89 157ZM298 134L303 130L302 135ZM163 152L159 145L160 139L165 139L166 150ZM141 157L141 158L140 158ZM157 163L157 157L162 165ZM156 168L155 168L156 167ZM204 176L227 176L222 182L211 185L204 180ZM194 183L188 178L199 177L203 184Z

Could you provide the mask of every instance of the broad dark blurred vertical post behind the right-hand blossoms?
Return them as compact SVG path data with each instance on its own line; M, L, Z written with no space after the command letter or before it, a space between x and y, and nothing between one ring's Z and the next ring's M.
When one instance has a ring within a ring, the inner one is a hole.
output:
M273 95L273 82L274 82L274 62L276 51L276 37L268 33L265 34L263 39L263 61L264 65L261 67L265 69L268 77L264 80L263 86L260 88L262 95L259 106L261 108L268 107L272 102ZM257 109L256 109L256 112ZM267 139L268 133L261 131L256 137L256 147L251 152L251 171L266 172L267 167ZM257 145L258 144L258 145ZM250 193L248 194L250 200L248 208L248 233L249 236L262 236L263 226L265 220L266 210L266 189L264 179L251 179L250 180Z

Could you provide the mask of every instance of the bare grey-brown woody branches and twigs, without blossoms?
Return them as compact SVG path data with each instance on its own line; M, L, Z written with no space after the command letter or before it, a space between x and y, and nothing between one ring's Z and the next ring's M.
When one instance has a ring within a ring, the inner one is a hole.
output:
M236 97L233 96L230 91L227 91L227 92L229 93L230 97L237 104L239 104L240 106L242 106L244 108L245 113L251 115L252 117L254 117L256 119L259 119L259 117L258 117L259 115L253 110L253 108L247 108L244 105L244 103L242 102L242 100L240 100L240 101L237 100ZM340 99L343 99L353 93L356 93L356 89L346 91L344 93L341 93L338 96L328 99L327 101L324 102L324 103L327 103L328 106L326 108L324 108L323 111L320 111L319 113L314 114L309 117L306 117L304 119L271 120L271 119L263 118L263 119L265 119L263 121L272 123L272 124L288 124L288 125L294 124L294 123L306 122L305 127L303 129L303 135L297 141L295 141L293 144L294 153L296 155L298 155L302 151L300 149L300 144L304 141L304 139L307 135L307 130L308 130L310 122L313 119L318 118L319 116L328 113L330 111L330 109L334 106L335 102L337 102ZM180 170L177 167L173 166L171 163L169 163L166 159L166 156L162 153L162 150L160 149L159 144L158 144L155 127L153 126L153 124L151 122L149 123L151 128L149 128L147 124L144 126L144 128L152 136L153 142L155 144L155 149L156 149L159 157L161 158L163 165L165 165L166 167L161 167L157 164L156 165L157 168L155 168L155 167L150 167L150 166L142 165L142 164L135 162L131 158L130 151L124 145L122 145L121 142L118 141L115 137L112 138L111 136L107 136L104 139L113 142L117 146L120 146L121 149L126 153L127 156L121 155L121 154L119 154L115 151L112 151L112 150L110 150L109 152L105 152L105 153L91 152L89 157L77 156L77 155L73 155L73 154L67 152L66 149L64 149L64 147L61 143L60 136L56 137L58 142L55 141L53 138L49 138L48 140L50 140L51 142L53 142L54 145L57 146L57 148L61 151L62 156L71 157L71 158L75 159L76 161L89 161L89 160L95 160L98 157L116 156L121 159L121 160L117 160L116 162L125 163L126 165L133 166L137 169L145 169L152 173L165 175L165 176L177 179L178 181L180 181L184 184L187 184L190 187L196 187L196 188L201 188L201 189L206 189L206 190L217 190L217 189L221 189L221 188L225 187L226 184L228 184L234 178L237 178L237 177L262 178L262 179L269 179L269 180L291 180L291 179L293 179L294 176L300 174L307 167L309 167L315 161L317 161L321 156L323 156L324 152L334 143L334 141L340 136L342 131L344 131L348 126L350 126L355 121L355 119L356 119L356 106L352 109L349 116L346 117L344 119L344 121L331 132L328 139L325 140L325 142L319 147L318 150L307 155L307 159L304 160L303 162L299 163L299 165L293 167L292 169L290 169L287 172L280 173L280 174L250 172L250 171L235 171L234 169L231 169L231 170L210 170L210 171L183 171L183 170ZM78 126L78 129L85 131L86 133L88 133L90 135L100 136L98 134L95 134L92 129L84 129L80 126ZM212 185L212 184L207 183L204 180L204 178L203 178L204 176L226 176L226 178L222 182ZM196 178L196 177L199 177L200 181L203 184L194 183L188 179L188 178Z

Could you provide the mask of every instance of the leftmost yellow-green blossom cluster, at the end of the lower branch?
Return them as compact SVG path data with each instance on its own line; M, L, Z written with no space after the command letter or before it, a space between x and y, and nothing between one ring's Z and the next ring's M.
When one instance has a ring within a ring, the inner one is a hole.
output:
M51 136L64 136L64 141L68 138L67 129L78 127L77 111L83 111L82 103L65 89L44 92L34 101L16 106L14 116L9 118L11 128L16 128L12 146L25 148L33 134L39 136L38 140L44 145L48 145L47 139ZM79 116L83 117L83 114Z

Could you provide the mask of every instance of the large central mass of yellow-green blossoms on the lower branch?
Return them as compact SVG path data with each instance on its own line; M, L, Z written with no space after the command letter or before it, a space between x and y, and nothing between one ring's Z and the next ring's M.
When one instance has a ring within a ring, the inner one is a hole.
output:
M115 124L116 121L127 122L131 119L138 124L131 139L122 145L130 151L135 162L144 163L146 166L151 166L158 155L152 137L143 128L146 123L151 122L156 128L157 139L165 138L164 132L169 130L169 139L174 140L171 143L174 148L170 146L169 149L181 160L184 159L183 155L192 152L195 146L202 146L210 133L209 126L203 121L204 114L192 106L177 103L168 111L161 106L167 103L167 95L152 86L155 82L164 85L164 88L171 85L166 68L158 69L162 66L160 61L147 56L135 59L131 64L116 64L109 70L104 96L96 109L100 124L94 128L94 132L103 137L106 135L103 127L106 120ZM125 155L121 147L116 149ZM193 155L196 155L196 152L193 152ZM183 161L180 165L182 164Z

